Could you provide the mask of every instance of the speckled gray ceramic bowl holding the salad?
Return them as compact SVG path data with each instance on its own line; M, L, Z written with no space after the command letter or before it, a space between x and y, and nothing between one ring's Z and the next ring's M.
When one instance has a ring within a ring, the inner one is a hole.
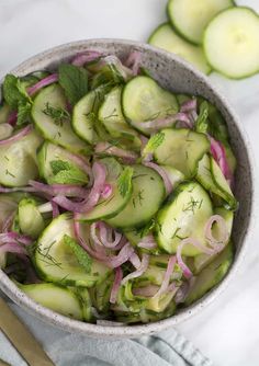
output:
M133 49L140 50L143 53L143 65L151 71L151 75L161 85L177 92L200 94L210 100L221 110L227 122L232 146L238 161L235 193L240 203L240 207L236 214L234 222L233 239L236 244L234 264L227 276L217 287L213 288L206 296L191 307L179 311L176 316L169 319L144 325L131 327L103 327L71 320L34 302L23 294L2 271L0 271L0 288L14 302L49 324L69 332L77 332L95 338L136 338L168 329L195 314L198 311L202 311L205 306L212 302L216 296L226 288L239 266L241 258L244 256L247 233L248 231L250 232L250 221L252 216L254 174L250 147L235 113L227 101L211 85L206 77L194 70L177 56L145 44L121 39L90 39L75 42L36 55L18 66L11 72L18 76L24 76L35 70L54 69L60 61L69 60L71 56L89 48L109 54L116 54L120 57L127 55L128 52Z

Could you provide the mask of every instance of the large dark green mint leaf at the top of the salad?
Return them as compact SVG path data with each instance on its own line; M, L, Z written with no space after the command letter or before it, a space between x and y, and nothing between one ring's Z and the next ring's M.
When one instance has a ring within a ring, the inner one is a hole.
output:
M75 105L88 92L88 71L82 67L71 64L61 64L58 67L59 84L63 87L65 94Z

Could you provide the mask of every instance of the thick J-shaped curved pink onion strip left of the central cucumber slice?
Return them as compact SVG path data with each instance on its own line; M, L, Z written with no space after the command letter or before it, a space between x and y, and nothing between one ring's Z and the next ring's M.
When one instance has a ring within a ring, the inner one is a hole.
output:
M97 205L101 196L103 186L105 184L106 169L102 163L94 162L92 165L92 172L93 172L94 183L86 199L76 203L66 198L65 196L59 195L54 197L53 201L60 207L74 213L83 214L90 211Z

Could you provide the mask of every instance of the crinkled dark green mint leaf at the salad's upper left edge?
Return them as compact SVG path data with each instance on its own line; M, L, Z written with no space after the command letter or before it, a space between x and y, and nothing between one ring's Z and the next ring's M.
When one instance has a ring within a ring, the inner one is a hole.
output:
M8 73L3 81L3 98L12 110L30 101L26 91L22 88L21 80L11 73Z

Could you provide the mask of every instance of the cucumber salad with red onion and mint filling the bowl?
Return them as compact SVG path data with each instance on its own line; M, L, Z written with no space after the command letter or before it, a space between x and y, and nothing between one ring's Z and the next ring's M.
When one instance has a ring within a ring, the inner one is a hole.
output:
M7 75L0 265L32 299L100 324L171 317L226 275L236 159L202 96L87 50Z

